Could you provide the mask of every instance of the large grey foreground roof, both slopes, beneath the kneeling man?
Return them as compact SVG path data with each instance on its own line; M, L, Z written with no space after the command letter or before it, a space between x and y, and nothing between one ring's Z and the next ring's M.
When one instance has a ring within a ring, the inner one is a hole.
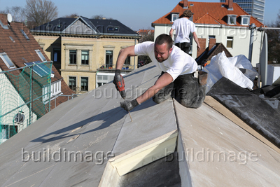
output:
M147 64L127 74L124 77L127 99L134 99L153 85L160 72L153 64ZM155 132L162 136L174 130L169 124L175 121L179 125L181 145L179 158L176 157L178 162L162 163L165 158L152 162L121 176L120 186L130 186L137 181L138 186L146 186L148 180L155 186L155 178L161 181L158 185L167 184L162 182L167 180L174 186L180 183L182 186L185 183L190 186L279 183L279 153L211 106L203 104L200 109L187 109L176 101L155 104L150 99L130 112L131 122L127 111L120 108L122 101L115 85L108 83L60 104L15 134L0 145L0 186L98 186L108 161L106 155L114 148L116 155L121 155L133 146L146 144L157 136ZM136 126L133 128L133 125ZM125 133L130 133L127 142ZM246 165L241 165L240 159L237 162L202 162L200 157L191 160L192 155L186 155L190 148L195 151L193 156L196 153L199 156L202 148L210 153L255 151L258 161L248 160Z

